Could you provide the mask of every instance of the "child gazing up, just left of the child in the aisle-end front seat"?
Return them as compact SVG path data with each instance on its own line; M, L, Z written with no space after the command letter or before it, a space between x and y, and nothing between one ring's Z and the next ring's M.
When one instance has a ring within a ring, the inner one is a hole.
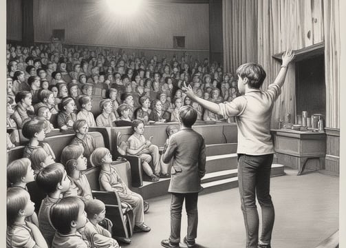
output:
M81 171L87 169L87 158L83 156L84 149L80 145L67 145L61 152L61 163L65 165L71 185L64 196L78 196L83 201L92 198L87 176Z

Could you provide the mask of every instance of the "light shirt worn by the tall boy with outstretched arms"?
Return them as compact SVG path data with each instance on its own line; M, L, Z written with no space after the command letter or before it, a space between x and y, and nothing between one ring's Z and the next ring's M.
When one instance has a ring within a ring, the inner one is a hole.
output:
M219 103L226 118L236 116L238 126L238 154L263 155L274 153L270 134L270 118L275 100L281 93L279 85L272 83L263 92L251 89L230 103Z

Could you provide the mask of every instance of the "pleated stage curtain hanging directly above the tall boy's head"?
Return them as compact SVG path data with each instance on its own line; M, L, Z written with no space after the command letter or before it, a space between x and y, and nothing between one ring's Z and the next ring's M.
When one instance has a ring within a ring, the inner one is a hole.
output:
M242 63L257 61L257 0L224 0L222 22L224 70L235 73Z

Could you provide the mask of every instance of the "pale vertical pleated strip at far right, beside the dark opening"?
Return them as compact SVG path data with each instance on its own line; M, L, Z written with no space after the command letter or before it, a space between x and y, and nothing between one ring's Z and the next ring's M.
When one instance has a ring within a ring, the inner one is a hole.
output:
M324 1L323 12L325 17L326 127L340 128L339 1Z

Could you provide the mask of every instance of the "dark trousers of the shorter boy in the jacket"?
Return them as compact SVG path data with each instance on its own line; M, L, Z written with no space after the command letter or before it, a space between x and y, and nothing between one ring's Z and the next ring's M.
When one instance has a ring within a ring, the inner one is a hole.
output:
M171 198L171 242L180 242L180 227L182 220L182 204L185 199L185 209L187 214L187 235L188 241L195 241L197 238L198 211L197 200L198 193L178 194L172 193Z

